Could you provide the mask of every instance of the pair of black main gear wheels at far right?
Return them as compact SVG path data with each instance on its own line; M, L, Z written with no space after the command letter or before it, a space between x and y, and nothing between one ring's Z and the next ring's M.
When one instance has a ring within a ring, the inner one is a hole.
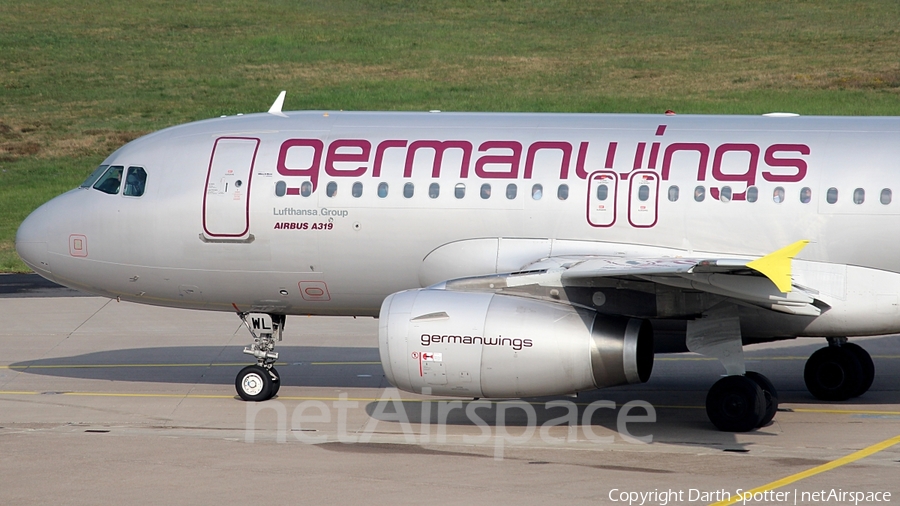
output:
M803 371L806 388L823 401L845 401L869 390L875 363L869 353L847 338L829 338L828 347L813 353Z

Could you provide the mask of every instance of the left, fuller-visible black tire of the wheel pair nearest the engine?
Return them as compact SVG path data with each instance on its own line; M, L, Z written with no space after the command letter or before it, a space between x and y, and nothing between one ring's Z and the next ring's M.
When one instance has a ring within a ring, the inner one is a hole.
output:
M747 432L759 427L766 413L765 394L746 376L726 376L706 395L706 414L719 430Z

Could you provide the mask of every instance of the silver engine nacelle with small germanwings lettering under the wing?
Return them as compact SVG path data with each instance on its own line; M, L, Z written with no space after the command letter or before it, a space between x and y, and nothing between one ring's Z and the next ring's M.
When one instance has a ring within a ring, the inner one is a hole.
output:
M393 385L432 395L568 394L643 383L653 369L646 320L480 292L390 295L378 348Z

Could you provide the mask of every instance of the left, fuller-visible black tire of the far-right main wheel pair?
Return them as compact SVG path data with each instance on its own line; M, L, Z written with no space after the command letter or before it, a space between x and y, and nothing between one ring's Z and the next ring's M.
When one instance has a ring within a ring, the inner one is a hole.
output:
M829 346L806 361L803 379L809 393L823 401L846 401L863 386L863 369L850 350Z

